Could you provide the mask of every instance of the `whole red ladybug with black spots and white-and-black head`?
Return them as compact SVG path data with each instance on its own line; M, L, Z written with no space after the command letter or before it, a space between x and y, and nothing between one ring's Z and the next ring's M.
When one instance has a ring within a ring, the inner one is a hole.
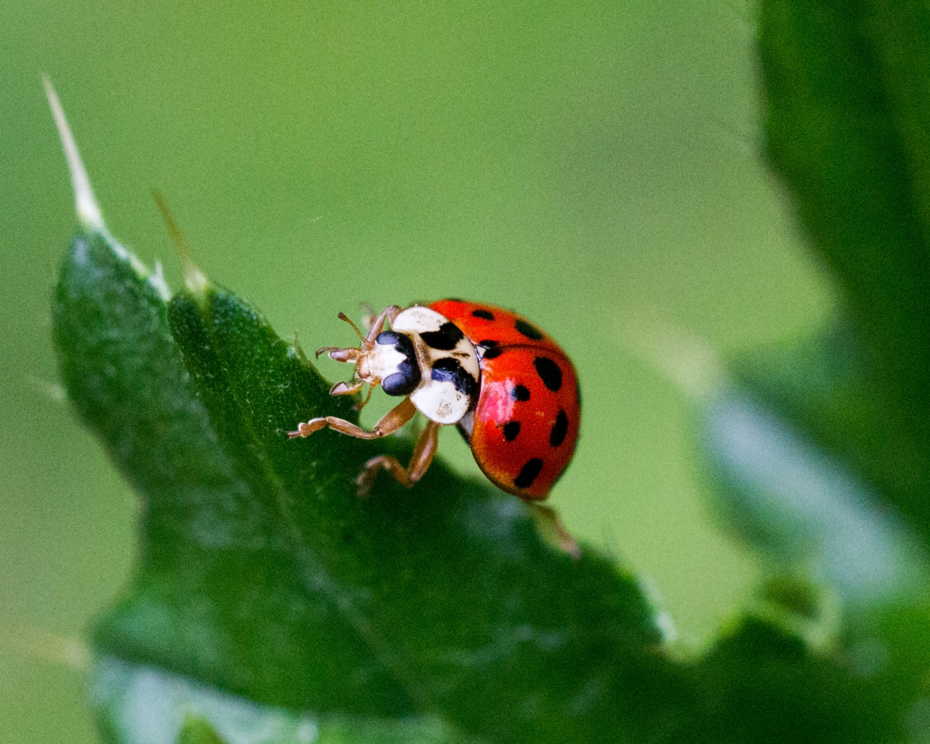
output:
M381 470L414 485L430 467L439 427L451 424L492 483L527 501L549 495L575 452L581 419L575 367L551 337L514 312L461 299L405 310L392 305L374 319L366 336L345 314L339 317L355 328L362 344L316 352L355 365L352 382L338 382L330 393L360 392L368 383L367 397L356 408L368 402L377 385L404 400L371 432L326 416L299 424L290 437L329 427L379 439L419 411L428 422L409 466L389 455L369 459L356 481L360 496Z

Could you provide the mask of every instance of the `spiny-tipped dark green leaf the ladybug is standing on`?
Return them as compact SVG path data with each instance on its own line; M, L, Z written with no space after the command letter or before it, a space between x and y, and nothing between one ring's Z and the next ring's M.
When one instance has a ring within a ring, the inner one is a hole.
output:
M144 499L139 572L100 653L489 740L616 740L635 721L631 689L662 668L635 580L552 549L517 499L441 462L357 498L365 458L409 444L289 440L351 402L240 299L207 286L166 304L111 239L78 233L55 339L79 415Z

